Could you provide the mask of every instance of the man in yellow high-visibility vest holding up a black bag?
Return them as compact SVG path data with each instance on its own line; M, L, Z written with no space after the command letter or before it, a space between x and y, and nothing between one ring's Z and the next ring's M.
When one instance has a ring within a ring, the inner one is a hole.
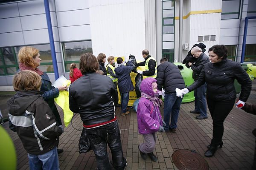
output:
M142 74L146 77L157 77L157 62L156 60L149 55L149 51L147 49L142 51L142 56L145 59L145 61L140 62L137 64L137 66L145 66L145 71L138 70L139 74Z

